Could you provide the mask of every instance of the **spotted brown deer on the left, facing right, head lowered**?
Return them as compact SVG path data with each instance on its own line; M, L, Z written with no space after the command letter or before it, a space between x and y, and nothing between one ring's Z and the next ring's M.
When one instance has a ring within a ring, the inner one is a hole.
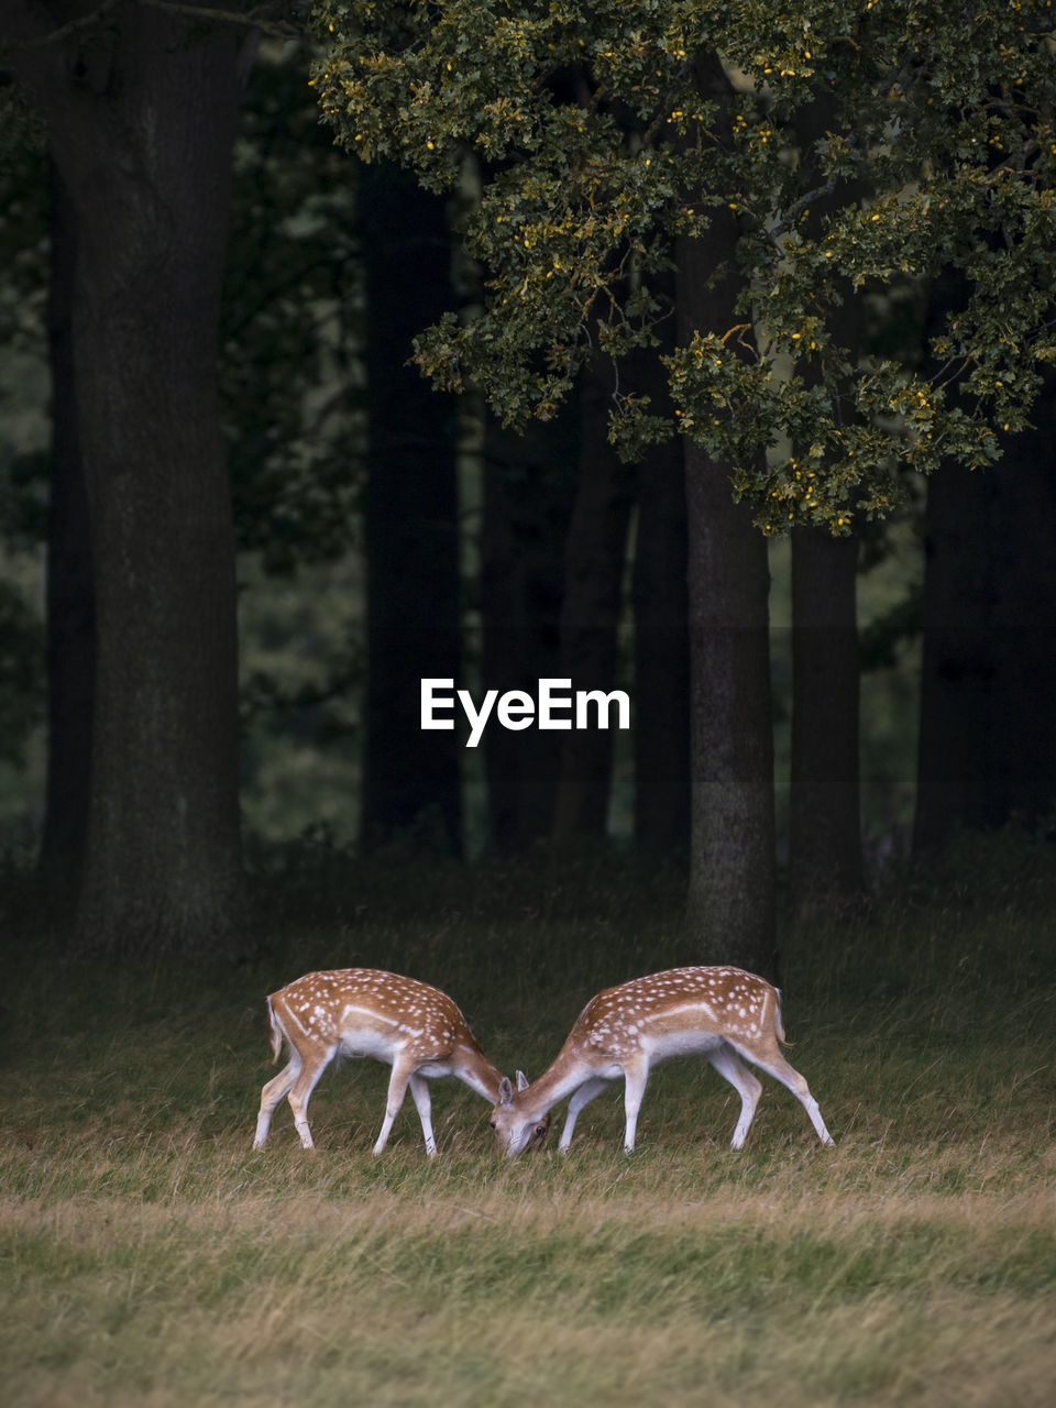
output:
M389 1142L408 1086L429 1157L436 1153L429 1080L456 1076L489 1102L498 1100L503 1076L482 1052L455 1002L439 988L398 973L379 969L306 973L268 998L268 1033L272 1059L279 1059L283 1042L290 1059L260 1091L253 1149L268 1139L283 1095L303 1148L315 1148L308 1100L322 1071L341 1056L373 1056L393 1067L376 1155Z

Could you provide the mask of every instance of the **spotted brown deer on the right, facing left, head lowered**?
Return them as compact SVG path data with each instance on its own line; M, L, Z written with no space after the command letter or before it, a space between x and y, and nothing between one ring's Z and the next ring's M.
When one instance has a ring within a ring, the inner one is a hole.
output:
M824 1145L834 1143L818 1102L803 1076L781 1055L781 994L765 979L738 967L681 967L608 987L593 997L558 1056L538 1080L517 1071L517 1090L498 1084L491 1129L508 1156L539 1142L549 1111L570 1095L558 1145L566 1153L586 1104L624 1077L624 1149L635 1146L638 1111L649 1071L672 1056L704 1056L741 1095L741 1118L731 1148L741 1149L762 1093L745 1060L767 1071L796 1095ZM743 1057L743 1060L742 1060Z

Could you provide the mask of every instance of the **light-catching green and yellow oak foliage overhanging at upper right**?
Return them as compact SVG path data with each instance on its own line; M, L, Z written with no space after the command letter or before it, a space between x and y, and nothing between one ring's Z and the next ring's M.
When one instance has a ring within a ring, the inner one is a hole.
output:
M1049 3L950 20L941 0L320 0L317 17L345 146L438 190L469 159L486 173L465 225L483 307L418 342L438 384L548 418L596 349L624 452L691 436L770 532L849 531L893 507L897 467L986 466L1025 424L1056 356ZM667 415L624 363L672 317L676 241L727 211L738 321L665 359ZM848 337L849 301L941 276L924 366L873 352L865 313Z

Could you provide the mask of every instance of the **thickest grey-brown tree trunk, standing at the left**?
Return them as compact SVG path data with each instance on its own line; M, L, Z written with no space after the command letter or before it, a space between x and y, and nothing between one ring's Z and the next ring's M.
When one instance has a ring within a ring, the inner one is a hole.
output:
M24 15L38 30L68 17ZM15 55L77 241L97 627L77 946L241 955L234 536L215 396L238 34L141 6L106 24Z

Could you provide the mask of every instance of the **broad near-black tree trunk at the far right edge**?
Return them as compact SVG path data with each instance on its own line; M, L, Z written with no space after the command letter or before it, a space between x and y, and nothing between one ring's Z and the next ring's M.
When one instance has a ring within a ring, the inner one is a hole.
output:
M960 828L1035 824L1056 803L1056 434L1053 379L1038 428L993 469L928 483L914 848Z

